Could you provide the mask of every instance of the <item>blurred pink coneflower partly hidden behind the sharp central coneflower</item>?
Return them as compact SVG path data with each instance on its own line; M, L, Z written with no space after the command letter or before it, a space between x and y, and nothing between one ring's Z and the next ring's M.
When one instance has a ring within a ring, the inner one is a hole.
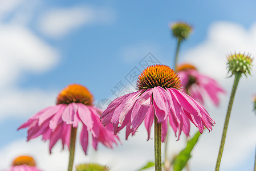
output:
M218 85L216 80L200 74L196 67L188 63L177 66L177 73L184 87L183 91L188 93L193 99L204 104L203 96L208 94L215 105L220 103L218 94L225 93L225 91Z

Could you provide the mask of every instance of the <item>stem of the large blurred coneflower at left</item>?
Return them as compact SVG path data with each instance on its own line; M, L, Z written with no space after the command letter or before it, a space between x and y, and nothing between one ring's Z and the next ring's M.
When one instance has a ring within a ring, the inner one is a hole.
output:
M71 127L71 135L70 135L70 160L68 161L68 171L72 171L74 156L75 156L75 144L76 144L76 129Z

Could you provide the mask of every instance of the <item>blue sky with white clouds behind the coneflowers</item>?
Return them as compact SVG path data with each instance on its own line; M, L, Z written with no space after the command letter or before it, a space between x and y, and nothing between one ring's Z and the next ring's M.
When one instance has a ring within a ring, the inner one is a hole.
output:
M19 125L40 109L54 105L56 95L68 84L86 86L94 94L96 104L101 99L115 97L111 89L120 81L131 86L125 76L134 67L143 70L139 63L148 52L162 64L172 67L176 41L168 25L174 21L188 22L194 28L190 38L181 46L180 62L196 64L227 91L226 96L221 97L223 103L219 108L206 104L210 112L221 114L213 116L217 122L216 133L209 133L213 136L202 141L214 140L213 144L218 148L233 82L233 79L227 79L226 54L248 51L255 56L255 6L255 1L0 0L0 153L26 137L26 130L17 132ZM255 132L250 101L255 93L255 78L242 79L239 86L234 107L237 103L240 108L234 109L237 115L234 113L233 123L241 121L239 111L242 112L245 117L239 124L244 129L235 124L233 127L240 129L242 134L246 128ZM247 107L247 113L242 107ZM124 141L124 137L121 138ZM136 136L130 139L136 146L137 141L147 140L147 137L144 133L140 139ZM235 140L230 136L227 142L229 139L230 142ZM255 138L250 142L255 144ZM125 150L125 145L129 147L128 143L125 142L121 149L117 148L116 154ZM177 146L182 148L182 141L180 144ZM42 145L47 147L47 143ZM56 152L59 150L57 148ZM246 150L241 147L245 154L243 160L238 162L235 158L237 165L231 168L227 161L225 170L239 170L245 166L251 170L254 149ZM10 153L6 162L11 162L11 155L15 156L15 153ZM216 159L213 160L214 165ZM222 162L225 165L225 161ZM8 165L0 165L0 170ZM192 163L193 167L196 168Z

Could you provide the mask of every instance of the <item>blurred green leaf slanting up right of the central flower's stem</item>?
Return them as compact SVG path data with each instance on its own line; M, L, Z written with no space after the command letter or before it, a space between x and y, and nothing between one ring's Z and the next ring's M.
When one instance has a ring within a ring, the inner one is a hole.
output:
M189 158L191 157L191 151L196 145L199 136L201 135L200 132L197 132L186 144L186 147L176 156L173 160L173 171L181 171L186 163L188 162Z

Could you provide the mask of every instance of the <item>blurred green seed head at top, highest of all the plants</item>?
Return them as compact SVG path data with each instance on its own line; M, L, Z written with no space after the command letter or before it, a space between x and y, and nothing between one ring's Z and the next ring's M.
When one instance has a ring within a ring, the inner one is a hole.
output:
M174 22L170 24L170 29L172 30L173 36L180 41L188 39L190 32L192 32L192 26L185 22Z

